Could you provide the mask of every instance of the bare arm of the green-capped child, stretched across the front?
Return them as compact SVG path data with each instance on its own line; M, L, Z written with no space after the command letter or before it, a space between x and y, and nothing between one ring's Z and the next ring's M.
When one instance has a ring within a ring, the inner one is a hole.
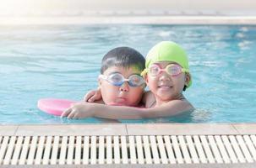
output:
M187 100L173 100L155 108L131 108L79 102L73 107L68 108L62 117L110 119L161 118L174 116L193 109L193 106Z

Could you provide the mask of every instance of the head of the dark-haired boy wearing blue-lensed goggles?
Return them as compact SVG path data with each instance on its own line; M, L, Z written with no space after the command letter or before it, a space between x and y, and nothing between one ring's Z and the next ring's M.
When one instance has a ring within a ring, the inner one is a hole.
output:
M101 61L99 89L106 105L139 106L144 93L145 82L141 72L144 70L144 56L129 47L117 47L104 55ZM68 118L77 118L71 113Z

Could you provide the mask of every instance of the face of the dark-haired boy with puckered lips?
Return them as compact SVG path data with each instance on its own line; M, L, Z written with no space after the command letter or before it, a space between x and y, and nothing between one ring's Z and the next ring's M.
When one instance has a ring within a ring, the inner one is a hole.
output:
M110 76L113 73L119 73L123 75L124 78L128 78L134 74L140 74L136 68L129 67L117 67L112 66L104 71L103 75ZM123 85L120 87L114 86L110 82L99 79L99 85L101 87L102 99L106 104L115 104L119 106L137 106L141 100L141 97L144 92L144 85L139 87L130 87L128 81L123 82Z

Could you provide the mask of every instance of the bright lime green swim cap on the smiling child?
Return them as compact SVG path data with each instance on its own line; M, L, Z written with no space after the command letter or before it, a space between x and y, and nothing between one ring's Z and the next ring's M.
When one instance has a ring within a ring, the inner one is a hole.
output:
M160 61L176 62L189 73L187 53L180 45L177 45L177 43L172 41L161 41L153 46L146 56L146 69L155 62ZM191 84L192 80L190 79L187 87L190 87Z

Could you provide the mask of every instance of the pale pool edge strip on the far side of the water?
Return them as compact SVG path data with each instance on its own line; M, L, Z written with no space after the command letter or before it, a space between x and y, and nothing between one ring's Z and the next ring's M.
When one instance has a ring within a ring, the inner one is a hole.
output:
M0 17L0 25L193 24L255 25L256 16L74 16Z

